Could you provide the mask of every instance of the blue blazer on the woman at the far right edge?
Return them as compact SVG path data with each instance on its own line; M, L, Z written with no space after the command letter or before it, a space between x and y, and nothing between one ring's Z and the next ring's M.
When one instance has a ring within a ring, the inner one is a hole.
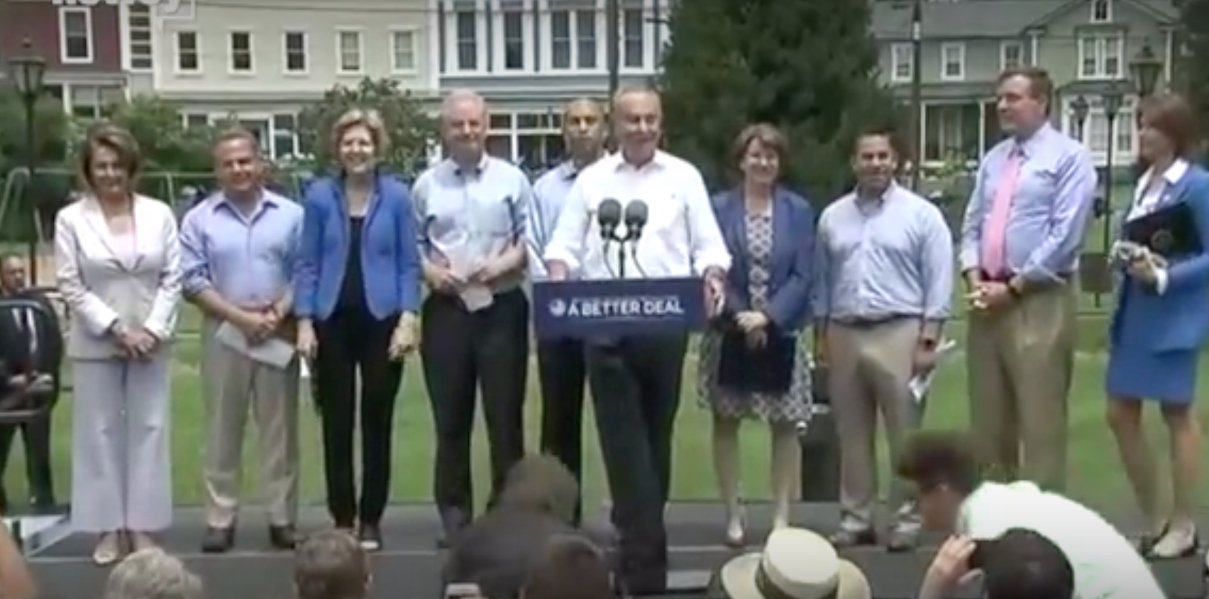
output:
M1209 173L1196 165L1179 183L1159 197L1159 206L1187 202L1201 236L1199 254L1174 260L1167 270L1167 288L1159 294L1152 286L1124 275L1117 292L1109 339L1120 339L1123 315L1147 323L1153 332L1147 347L1152 352L1191 351L1209 342Z

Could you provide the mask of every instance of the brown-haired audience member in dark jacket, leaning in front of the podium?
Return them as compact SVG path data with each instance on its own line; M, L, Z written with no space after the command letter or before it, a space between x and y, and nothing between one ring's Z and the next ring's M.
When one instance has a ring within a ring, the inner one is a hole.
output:
M575 532L578 499L575 478L556 459L521 460L496 505L452 540L444 583L473 583L488 599L516 599L546 542Z

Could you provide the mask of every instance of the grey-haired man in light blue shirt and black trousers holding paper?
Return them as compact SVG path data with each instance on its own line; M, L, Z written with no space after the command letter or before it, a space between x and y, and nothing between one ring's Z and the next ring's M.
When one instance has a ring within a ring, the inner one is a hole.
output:
M445 98L441 133L449 157L416 180L412 201L432 289L421 307L420 355L436 427L433 496L447 543L474 516L475 391L487 422L492 497L525 454L530 330L522 284L532 190L519 168L486 154L487 104L479 94Z

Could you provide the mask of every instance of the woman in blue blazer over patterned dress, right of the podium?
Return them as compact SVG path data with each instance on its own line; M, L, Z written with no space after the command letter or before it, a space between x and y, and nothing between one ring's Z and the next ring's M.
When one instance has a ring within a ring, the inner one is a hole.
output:
M764 420L773 434L773 526L788 525L798 470L797 425L809 415L810 370L798 347L806 324L814 212L777 186L785 137L752 125L735 142L742 185L715 198L734 264L721 319L701 341L699 393L713 411L713 463L727 505L727 543L741 546L739 425Z

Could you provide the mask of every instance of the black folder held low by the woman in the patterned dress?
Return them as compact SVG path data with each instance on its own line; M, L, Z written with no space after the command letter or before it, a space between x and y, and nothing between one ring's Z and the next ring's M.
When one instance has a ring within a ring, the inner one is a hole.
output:
M768 330L767 342L752 347L747 335L728 330L718 357L718 386L740 393L785 393L793 382L797 338Z

